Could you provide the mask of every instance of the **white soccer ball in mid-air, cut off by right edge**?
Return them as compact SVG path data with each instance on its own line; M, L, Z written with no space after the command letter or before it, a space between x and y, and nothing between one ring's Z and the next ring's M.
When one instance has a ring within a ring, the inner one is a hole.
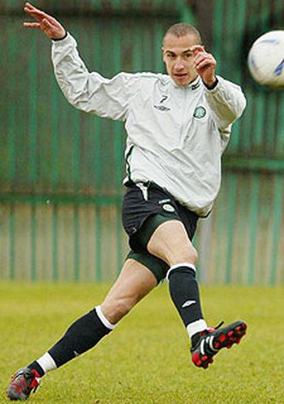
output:
M252 78L270 88L284 88L284 31L270 31L252 44L248 53Z

